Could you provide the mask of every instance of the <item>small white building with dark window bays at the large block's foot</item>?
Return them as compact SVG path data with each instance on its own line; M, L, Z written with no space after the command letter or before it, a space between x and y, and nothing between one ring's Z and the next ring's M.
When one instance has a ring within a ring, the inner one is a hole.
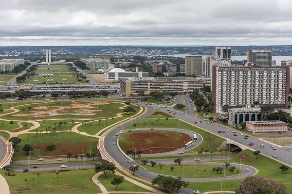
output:
M228 110L228 125L239 125L246 121L260 121L260 108L236 108Z

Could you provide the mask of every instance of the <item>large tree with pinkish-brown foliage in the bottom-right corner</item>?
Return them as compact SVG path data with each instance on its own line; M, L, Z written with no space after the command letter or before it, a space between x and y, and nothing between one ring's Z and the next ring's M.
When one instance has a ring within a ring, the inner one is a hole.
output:
M287 194L286 187L274 179L248 176L241 179L236 194Z

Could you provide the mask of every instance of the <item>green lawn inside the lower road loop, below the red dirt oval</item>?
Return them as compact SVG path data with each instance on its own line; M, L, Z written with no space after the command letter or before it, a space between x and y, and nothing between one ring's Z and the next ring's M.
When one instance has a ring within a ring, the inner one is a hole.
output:
M183 164L183 162L182 162ZM160 169L158 165L151 167L150 164L140 164L142 167L150 170L152 172L162 174L162 175L170 175L170 166L174 165L174 170L171 172L172 176L175 177L185 177L185 178L222 178L224 177L224 172L222 174L217 173L216 171L212 171L213 167L221 166L221 165L196 165L196 164L185 164L184 165L184 176L183 176L183 165L179 164L166 164ZM222 167L222 166L221 166ZM236 169L233 173L225 170L225 177L237 175ZM242 173L243 170L239 170L239 173Z

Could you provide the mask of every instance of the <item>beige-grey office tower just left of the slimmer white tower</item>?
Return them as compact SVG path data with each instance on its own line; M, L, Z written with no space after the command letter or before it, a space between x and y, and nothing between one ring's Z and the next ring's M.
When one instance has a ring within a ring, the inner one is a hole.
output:
M185 75L202 75L202 56L185 56Z

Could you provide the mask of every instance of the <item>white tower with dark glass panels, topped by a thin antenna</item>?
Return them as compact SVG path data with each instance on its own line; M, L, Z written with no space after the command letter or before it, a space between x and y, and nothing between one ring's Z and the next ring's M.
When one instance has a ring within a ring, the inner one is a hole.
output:
M217 66L231 65L231 47L216 47L215 48L215 64Z

